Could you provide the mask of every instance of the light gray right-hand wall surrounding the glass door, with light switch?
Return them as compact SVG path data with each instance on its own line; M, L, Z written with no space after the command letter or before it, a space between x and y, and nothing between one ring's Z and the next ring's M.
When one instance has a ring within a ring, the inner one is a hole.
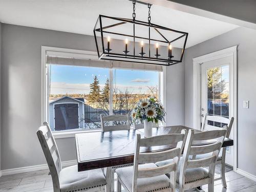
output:
M186 49L185 125L193 126L193 58L238 45L238 168L256 175L256 30L237 28ZM243 100L250 108L243 109Z

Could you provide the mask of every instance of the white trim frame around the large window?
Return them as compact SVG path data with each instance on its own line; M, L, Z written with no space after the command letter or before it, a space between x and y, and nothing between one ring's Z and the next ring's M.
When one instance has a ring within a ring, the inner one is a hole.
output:
M98 59L98 54L95 51L84 51L84 50L76 50L76 49L66 49L66 48L57 48L57 47L48 47L48 46L41 46L41 124L45 121L48 121L49 119L49 95L48 95L48 85L47 82L49 81L49 76L47 76L47 73L49 72L46 60L47 60L47 52L53 53L55 56L62 56L62 57L71 57L71 58L81 58L81 59ZM112 81L113 77L113 70L110 70L110 80ZM165 66L163 66L163 84L161 86L162 88L162 102L165 107L165 99L166 99L166 89L165 89L165 75L166 69ZM159 93L160 89L159 87ZM112 89L111 89L112 90ZM113 92L113 91L111 91ZM113 94L113 93L112 93ZM110 96L111 97L111 96ZM112 96L113 97L113 96ZM110 105L112 103L112 99L110 100ZM113 105L113 103L112 103ZM113 114L113 111L110 111L110 114ZM165 123L164 123L165 125ZM65 131L57 131L53 132L53 136L55 139L59 138L69 138L69 137L75 137L75 134L77 133L91 133L91 132L101 132L101 129L93 129L93 130L83 130L83 129L77 129L77 130L65 130Z

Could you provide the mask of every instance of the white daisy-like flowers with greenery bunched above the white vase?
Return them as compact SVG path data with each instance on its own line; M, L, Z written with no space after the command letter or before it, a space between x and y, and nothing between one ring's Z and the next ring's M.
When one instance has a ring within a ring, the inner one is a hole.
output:
M164 121L165 111L161 102L158 102L154 97L150 97L144 100L139 100L136 104L133 112L133 120L147 120L158 123L159 121Z

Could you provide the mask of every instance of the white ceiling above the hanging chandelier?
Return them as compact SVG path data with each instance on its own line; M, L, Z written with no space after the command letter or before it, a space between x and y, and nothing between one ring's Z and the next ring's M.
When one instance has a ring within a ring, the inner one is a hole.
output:
M128 0L0 0L0 22L42 29L93 35L99 14L132 18L132 2ZM238 27L157 5L152 6L151 16L154 24L188 32L186 48ZM136 18L147 21L147 6L137 4ZM142 32L141 30L140 33Z

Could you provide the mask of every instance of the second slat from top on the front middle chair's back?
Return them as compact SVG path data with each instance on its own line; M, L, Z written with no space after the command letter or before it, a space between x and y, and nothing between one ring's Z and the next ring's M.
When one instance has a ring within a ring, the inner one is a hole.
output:
M180 154L180 148L176 147L172 150L165 150L155 153L140 153L138 163L155 163L166 159L173 159Z

